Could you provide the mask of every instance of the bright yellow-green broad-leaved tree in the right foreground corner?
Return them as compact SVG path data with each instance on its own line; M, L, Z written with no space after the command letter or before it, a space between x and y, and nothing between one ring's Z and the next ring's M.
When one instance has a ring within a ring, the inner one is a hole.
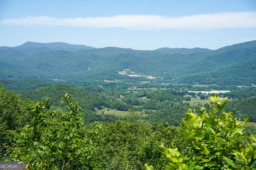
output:
M188 109L186 118L183 119L186 129L184 138L190 140L188 147L192 154L182 156L177 148L165 148L160 145L160 152L165 154L170 162L163 165L168 170L254 170L256 169L256 138L244 145L244 126L234 117L234 112L223 112L227 98L220 98L213 94L210 96L212 103L207 103L209 112L201 107L197 114ZM147 167L148 168L148 167Z

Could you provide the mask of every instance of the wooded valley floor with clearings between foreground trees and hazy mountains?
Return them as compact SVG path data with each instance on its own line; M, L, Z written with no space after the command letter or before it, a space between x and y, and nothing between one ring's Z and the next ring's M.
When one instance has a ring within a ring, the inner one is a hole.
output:
M230 90L229 93L218 94L221 97L228 97L229 104L225 108L226 111L236 109L236 116L244 119L251 114L250 121L256 122L256 115L253 114L255 108L256 88L236 87L236 86L192 86L189 84L171 85L171 84L138 84L134 89L134 84L122 82L87 82L77 86L67 84L51 84L48 82L42 86L41 80L3 80L1 81L6 89L15 91L22 100L29 99L34 102L41 101L44 97L49 97L49 104L55 107L63 106L59 103L64 92L68 92L79 105L82 107L82 113L86 115L86 123L94 121L110 121L125 120L125 116L114 114L102 114L102 111L116 109L128 113L128 109L134 106L139 112L138 118L141 121L149 123L168 122L170 125L179 125L184 112L188 108L199 111L209 99L209 94L202 94L200 91ZM26 83L35 89L27 90ZM18 85L20 84L20 85ZM13 87L16 88L13 88ZM42 86L40 88L36 88ZM189 92L199 91L199 93ZM122 97L120 97L122 96ZM196 101L197 99L204 99ZM194 101L192 102L191 101ZM245 104L247 103L247 104ZM251 103L251 105L249 104ZM125 112L126 111L126 112ZM101 114L99 114L101 113Z

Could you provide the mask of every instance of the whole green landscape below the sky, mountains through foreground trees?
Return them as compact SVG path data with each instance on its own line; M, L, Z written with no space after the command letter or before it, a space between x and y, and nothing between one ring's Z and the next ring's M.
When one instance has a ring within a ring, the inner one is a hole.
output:
M0 161L256 170L255 47L0 47Z

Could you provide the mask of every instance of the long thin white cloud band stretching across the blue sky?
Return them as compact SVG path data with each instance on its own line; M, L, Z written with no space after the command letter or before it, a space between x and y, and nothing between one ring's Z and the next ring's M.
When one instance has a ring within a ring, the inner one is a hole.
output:
M95 18L54 18L27 16L2 20L4 25L67 26L126 29L216 29L256 27L256 12L221 12L194 16L117 15Z

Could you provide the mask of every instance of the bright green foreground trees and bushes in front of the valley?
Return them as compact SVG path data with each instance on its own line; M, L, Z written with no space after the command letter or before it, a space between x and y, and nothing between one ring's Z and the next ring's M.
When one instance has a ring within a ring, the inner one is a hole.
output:
M211 101L199 114L188 109L177 126L139 121L134 107L127 120L85 125L68 93L64 107L52 107L50 98L22 100L1 86L0 160L40 170L255 169L256 139L244 131L249 118L240 127L233 112L222 111L227 98Z

